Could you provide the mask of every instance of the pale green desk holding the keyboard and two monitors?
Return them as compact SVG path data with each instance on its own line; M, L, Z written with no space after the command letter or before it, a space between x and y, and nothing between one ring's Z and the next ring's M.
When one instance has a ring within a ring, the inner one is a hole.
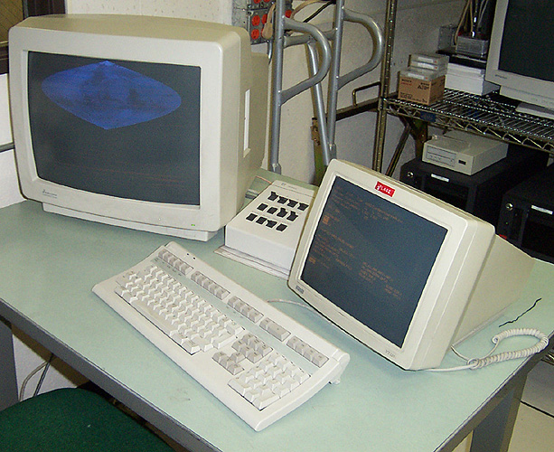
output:
M472 450L505 450L525 376L539 356L478 371L407 372L311 310L285 303L277 307L350 353L351 363L340 384L255 432L90 290L170 240L42 212L37 202L1 209L0 408L16 400L12 324L190 450L430 452L453 450L474 428ZM214 253L222 232L206 243L175 241L259 297L298 300L286 281ZM551 336L553 275L553 266L537 261L521 299L460 352L487 353L498 325L537 298L511 326ZM502 347L533 343L514 338ZM458 364L453 353L443 362Z

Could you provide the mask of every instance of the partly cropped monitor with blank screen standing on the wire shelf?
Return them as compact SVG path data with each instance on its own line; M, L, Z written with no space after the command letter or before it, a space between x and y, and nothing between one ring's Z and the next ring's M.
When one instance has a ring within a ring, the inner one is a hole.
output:
M485 78L521 100L519 111L554 118L553 53L552 2L496 1Z

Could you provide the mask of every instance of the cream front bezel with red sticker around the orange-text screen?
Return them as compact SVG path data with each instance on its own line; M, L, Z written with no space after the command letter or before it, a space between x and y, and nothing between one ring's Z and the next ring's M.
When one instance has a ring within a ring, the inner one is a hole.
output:
M401 347L392 344L335 306L332 301L323 297L316 287L309 286L302 279L317 224L321 220L325 202L337 177L408 209L409 212L436 222L447 231ZM394 194L390 196L386 191L378 190L378 184L389 187ZM455 330L464 315L465 306L492 245L493 236L492 225L439 202L426 193L418 192L408 185L367 168L333 160L327 168L306 221L288 283L300 297L333 323L393 363L404 369L435 367L452 343ZM451 268L455 268L455 271ZM461 284L462 281L464 284Z

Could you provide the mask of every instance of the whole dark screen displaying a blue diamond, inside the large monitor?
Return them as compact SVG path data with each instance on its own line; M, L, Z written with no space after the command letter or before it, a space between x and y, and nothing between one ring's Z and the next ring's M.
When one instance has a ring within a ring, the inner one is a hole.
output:
M200 204L201 69L30 52L39 177L125 199Z

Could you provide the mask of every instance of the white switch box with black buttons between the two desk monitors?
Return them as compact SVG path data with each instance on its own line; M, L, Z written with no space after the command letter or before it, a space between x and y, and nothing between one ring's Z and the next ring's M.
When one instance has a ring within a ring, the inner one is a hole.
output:
M315 190L277 181L225 227L225 246L286 272L295 258Z

